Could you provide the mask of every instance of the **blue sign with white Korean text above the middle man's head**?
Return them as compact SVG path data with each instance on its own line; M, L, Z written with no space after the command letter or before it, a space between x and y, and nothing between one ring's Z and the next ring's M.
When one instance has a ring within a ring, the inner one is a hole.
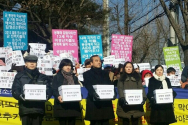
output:
M101 59L103 58L101 35L79 35L79 43L82 64L92 55L99 55Z

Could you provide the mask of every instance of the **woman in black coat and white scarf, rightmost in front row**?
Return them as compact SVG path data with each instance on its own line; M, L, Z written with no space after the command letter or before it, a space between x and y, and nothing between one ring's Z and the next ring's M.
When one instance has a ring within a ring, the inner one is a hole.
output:
M176 122L174 115L174 107L172 103L156 104L154 98L154 90L156 89L169 89L171 87L170 80L165 77L163 66L155 66L155 74L149 79L147 97L150 101L151 114L150 123L152 125L169 125ZM173 91L173 98L176 97L176 92Z

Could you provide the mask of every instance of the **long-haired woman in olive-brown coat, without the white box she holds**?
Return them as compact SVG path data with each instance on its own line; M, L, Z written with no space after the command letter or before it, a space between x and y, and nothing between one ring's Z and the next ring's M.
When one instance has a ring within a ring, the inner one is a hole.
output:
M140 104L129 105L125 99L124 90L142 90L143 100ZM131 119L132 125L138 125L141 116L144 115L143 105L146 101L145 90L142 86L140 74L134 71L133 63L126 62L118 81L119 100L117 106L117 115L123 119L123 125L129 125Z

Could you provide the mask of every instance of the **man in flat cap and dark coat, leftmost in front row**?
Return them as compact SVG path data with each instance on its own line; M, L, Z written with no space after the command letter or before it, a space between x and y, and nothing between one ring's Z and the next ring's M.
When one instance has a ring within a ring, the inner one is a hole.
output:
M24 99L25 84L46 85L46 100L52 96L51 80L37 69L38 58L34 55L25 57L25 70L19 72L12 85L12 96L18 100L19 115L22 125L42 125L45 114L45 101L27 101Z

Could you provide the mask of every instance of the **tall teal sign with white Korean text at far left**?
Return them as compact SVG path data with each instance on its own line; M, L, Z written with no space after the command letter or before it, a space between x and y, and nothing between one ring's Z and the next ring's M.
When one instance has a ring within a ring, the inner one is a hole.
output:
M27 13L3 12L4 46L27 50Z

